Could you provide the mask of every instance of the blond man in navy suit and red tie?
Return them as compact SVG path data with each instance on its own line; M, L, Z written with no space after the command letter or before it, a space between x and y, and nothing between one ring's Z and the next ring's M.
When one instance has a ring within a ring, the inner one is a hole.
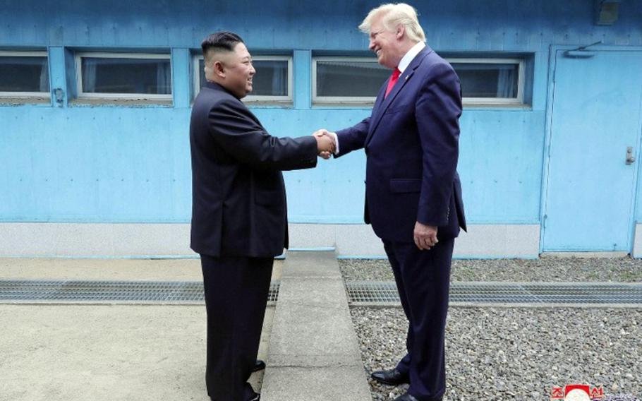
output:
M370 117L323 134L337 141L335 157L365 149L365 222L383 241L410 322L407 354L372 377L410 383L397 401L441 400L452 251L459 227L466 229L456 172L459 77L425 44L417 13L407 4L375 8L359 28L392 76Z

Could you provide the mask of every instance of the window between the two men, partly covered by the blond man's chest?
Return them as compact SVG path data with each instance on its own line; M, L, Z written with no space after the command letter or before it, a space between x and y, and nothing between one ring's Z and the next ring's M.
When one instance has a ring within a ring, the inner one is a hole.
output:
M372 104L390 70L372 58L315 57L312 100L317 104Z

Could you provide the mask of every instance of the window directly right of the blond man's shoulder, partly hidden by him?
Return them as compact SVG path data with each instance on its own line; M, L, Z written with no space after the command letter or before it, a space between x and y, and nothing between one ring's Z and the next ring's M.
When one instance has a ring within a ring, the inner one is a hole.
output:
M448 59L467 104L522 104L522 59Z

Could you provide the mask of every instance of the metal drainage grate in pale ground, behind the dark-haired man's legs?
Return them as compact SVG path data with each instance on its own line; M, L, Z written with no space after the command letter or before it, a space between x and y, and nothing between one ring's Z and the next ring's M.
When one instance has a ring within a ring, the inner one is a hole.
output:
M279 297L279 282L269 285L268 302ZM203 304L198 281L40 281L0 280L0 302L144 302Z

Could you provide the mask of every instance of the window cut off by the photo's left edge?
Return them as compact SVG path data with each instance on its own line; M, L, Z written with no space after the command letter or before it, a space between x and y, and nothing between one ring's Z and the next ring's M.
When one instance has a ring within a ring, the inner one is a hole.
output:
M0 97L49 98L46 52L0 52Z

